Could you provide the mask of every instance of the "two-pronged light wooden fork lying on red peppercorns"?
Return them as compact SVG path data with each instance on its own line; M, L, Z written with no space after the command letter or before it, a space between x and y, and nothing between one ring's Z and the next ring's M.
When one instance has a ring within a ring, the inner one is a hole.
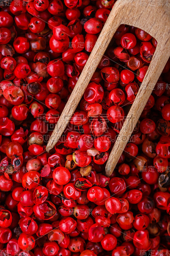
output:
M151 95L153 85L158 81L170 56L170 6L166 2L164 0L162 4L158 4L157 0L118 0L115 3L48 141L47 152L55 146L69 123L117 28L121 24L141 28L153 36L158 44L143 83L137 93L137 97L129 110L128 116L107 161L106 174L107 176L112 174Z

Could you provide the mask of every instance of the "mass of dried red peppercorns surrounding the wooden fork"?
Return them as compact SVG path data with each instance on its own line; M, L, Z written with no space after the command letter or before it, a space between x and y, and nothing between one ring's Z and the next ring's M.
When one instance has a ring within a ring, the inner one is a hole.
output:
M170 255L170 60L105 173L152 36L117 29L62 137L45 149L114 4L1 2L1 256Z

